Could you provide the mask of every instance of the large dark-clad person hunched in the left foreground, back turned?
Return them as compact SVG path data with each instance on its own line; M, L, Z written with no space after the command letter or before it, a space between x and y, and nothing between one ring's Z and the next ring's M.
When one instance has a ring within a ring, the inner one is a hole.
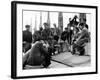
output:
M48 46L44 45L43 40L37 40L32 48L23 56L23 68L25 65L48 67L50 62L50 53L48 53Z

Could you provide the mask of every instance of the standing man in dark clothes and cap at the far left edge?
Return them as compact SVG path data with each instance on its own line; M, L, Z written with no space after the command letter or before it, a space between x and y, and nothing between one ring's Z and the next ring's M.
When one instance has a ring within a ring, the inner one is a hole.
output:
M32 33L30 32L30 25L25 26L23 31L23 52L26 53L31 48Z

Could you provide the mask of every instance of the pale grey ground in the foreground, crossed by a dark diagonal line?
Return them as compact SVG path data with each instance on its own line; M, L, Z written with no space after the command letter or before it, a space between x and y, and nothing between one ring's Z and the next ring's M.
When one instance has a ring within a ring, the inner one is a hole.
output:
M51 64L47 68L68 68L91 66L90 56L72 55L70 52L63 52L52 56ZM42 69L43 66L29 66L25 69Z

